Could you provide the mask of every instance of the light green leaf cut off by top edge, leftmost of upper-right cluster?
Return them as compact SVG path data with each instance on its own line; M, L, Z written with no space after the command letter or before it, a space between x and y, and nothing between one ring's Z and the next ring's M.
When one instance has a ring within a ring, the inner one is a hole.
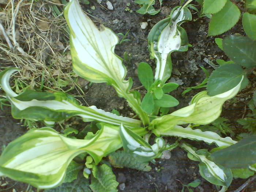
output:
M224 7L227 0L204 0L203 12L205 14L215 14Z

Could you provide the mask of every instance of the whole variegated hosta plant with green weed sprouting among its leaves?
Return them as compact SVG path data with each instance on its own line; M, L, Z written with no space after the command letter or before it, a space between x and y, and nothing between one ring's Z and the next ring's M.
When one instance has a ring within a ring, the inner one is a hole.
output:
M86 178L90 175L90 188L93 191L117 191L117 182L114 181L111 168L103 164L103 157L111 154L110 159L114 161L113 159L118 157L112 152L123 148L123 152L117 155L120 157L120 154L129 154L130 162L154 162L155 158L161 157L162 151L180 146L188 152L189 158L200 161L202 177L213 184L223 186L222 191L225 191L232 180L231 169L213 162L207 150L196 151L196 148L182 139L175 143L165 143L161 137L176 136L208 144L215 143L218 147L215 151L236 143L231 138L222 138L214 132L202 132L180 125L208 124L218 118L222 104L241 89L243 75L230 90L214 96L202 91L192 98L187 107L161 117L157 116L163 107L178 104L175 98L167 94L178 85L165 82L172 71L170 53L188 49L187 34L180 26L183 22L191 20L188 8L174 8L170 17L157 23L148 35L149 51L156 59L156 72L153 77L148 64L139 65L139 79L147 90L142 102L139 92L130 90L132 79L125 80L127 71L122 59L114 54L118 38L112 30L102 25L96 27L83 13L78 0L69 1L64 16L70 29L70 49L76 74L94 83L105 82L113 86L118 96L127 100L139 119L118 116L97 109L96 106L81 106L74 97L66 93L25 90L16 94L12 91L9 80L19 69L5 69L0 72L0 85L11 103L14 118L42 120L47 126L53 126L54 122L78 116L86 122L95 121L91 126L98 131L87 132L84 139L75 139L50 127L31 129L4 149L0 157L0 176L27 182L39 189L57 187L62 182L70 182L76 178L70 177L70 173L77 176L78 172L74 172L72 167L81 169L72 161L79 156L86 159L83 173ZM152 145L148 143L150 136L155 138ZM131 160L132 158L134 160ZM99 166L99 163L102 165ZM140 165L143 166L135 165L133 168L148 170L147 165Z

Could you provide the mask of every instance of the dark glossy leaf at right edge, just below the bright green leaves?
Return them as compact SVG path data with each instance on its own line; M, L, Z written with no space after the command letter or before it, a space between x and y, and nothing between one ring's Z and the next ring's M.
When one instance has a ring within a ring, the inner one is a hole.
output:
M222 45L231 60L243 67L255 67L256 41L248 37L230 35L223 39Z

